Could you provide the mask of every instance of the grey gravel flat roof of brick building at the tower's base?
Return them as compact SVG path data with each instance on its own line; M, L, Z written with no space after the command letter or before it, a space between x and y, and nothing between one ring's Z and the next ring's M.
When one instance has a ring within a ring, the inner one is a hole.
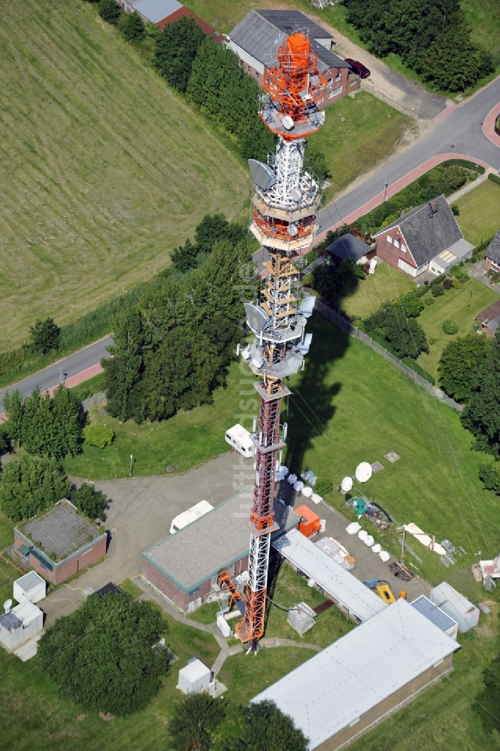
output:
M183 592L190 592L248 554L253 486L144 551L143 556ZM298 523L292 508L274 502L281 531ZM274 536L280 532L275 532Z

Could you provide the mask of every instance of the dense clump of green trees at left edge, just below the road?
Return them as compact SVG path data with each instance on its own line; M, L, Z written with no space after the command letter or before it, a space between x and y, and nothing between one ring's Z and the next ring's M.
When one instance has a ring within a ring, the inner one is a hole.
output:
M31 397L11 391L4 397L8 433L29 454L62 459L77 454L82 442L84 415L71 390L59 385L53 398L35 388Z

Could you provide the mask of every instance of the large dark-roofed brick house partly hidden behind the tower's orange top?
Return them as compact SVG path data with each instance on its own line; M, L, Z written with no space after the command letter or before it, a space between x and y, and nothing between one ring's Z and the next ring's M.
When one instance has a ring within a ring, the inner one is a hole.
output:
M238 55L245 72L262 85L268 69L276 63L278 44L296 31L307 33L318 68L329 83L320 107L359 89L359 77L332 52L332 35L300 11L250 11L229 33L227 46Z

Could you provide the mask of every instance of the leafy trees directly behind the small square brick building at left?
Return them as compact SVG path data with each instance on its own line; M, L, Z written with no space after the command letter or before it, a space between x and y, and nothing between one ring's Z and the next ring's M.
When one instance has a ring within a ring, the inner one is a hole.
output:
M91 485L71 485L62 466L52 457L10 461L0 475L0 508L12 521L30 519L68 498L90 519L105 520L108 499Z

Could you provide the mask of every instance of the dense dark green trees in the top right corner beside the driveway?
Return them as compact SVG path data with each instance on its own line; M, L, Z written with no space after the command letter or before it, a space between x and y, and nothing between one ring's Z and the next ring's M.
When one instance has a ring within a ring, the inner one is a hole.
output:
M396 53L437 89L459 92L494 70L471 41L459 0L343 0L347 22L378 57Z

